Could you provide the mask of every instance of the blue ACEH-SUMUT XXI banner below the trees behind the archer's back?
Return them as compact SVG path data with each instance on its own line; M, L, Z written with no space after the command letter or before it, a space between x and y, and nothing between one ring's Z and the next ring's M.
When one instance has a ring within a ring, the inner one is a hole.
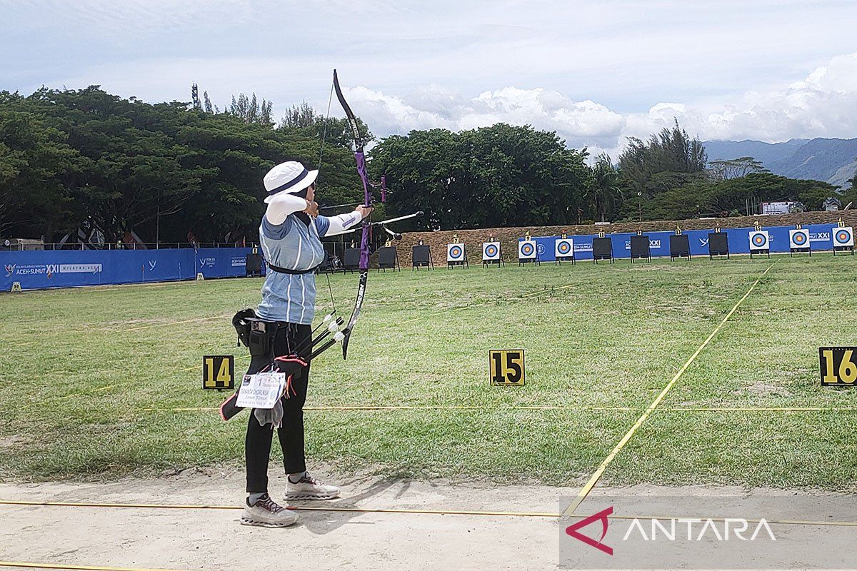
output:
M244 276L249 247L0 252L0 291Z

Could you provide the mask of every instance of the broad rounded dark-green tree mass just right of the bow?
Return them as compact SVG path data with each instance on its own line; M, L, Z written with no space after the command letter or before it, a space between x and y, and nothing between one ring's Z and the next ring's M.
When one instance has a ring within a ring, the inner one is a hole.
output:
M490 228L573 223L590 185L586 156L555 133L498 123L388 137L370 166L387 174L391 216L423 210L423 227Z

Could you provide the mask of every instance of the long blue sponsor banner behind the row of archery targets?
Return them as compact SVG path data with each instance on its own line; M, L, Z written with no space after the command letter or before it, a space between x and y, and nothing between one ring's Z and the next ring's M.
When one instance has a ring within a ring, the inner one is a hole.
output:
M830 250L833 248L833 229L835 224L806 224L804 229L809 230L810 246L812 250ZM788 253L789 241L788 231L794 226L763 226L768 231L770 238L771 253ZM727 235L729 253L750 253L750 233L752 228L728 228L721 232ZM687 235L691 247L692 256L708 255L708 235L713 229L684 230L682 234ZM649 238L649 248L652 257L669 256L669 236L674 232L645 232ZM614 258L631 258L631 236L632 233L608 234L612 241ZM596 235L569 235L574 241L574 257L577 259L592 259L592 239ZM554 242L560 236L537 236L538 257L542 262L553 262ZM523 240L519 238L518 241Z

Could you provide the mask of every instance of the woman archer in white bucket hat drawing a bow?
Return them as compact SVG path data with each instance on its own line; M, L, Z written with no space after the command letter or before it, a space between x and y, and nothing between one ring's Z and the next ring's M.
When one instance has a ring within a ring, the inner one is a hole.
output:
M321 237L344 233L372 208L358 206L348 214L319 216L315 202L318 170L289 161L265 175L267 211L262 217L259 239L267 261L267 277L256 312L269 322L273 354L291 354L309 342L315 316L315 273L324 260ZM309 363L291 380L293 393L282 399L283 419L277 430L283 449L287 482L286 500L326 500L339 496L339 488L321 483L307 472L303 444L303 404L307 397ZM290 526L297 514L275 503L268 495L267 467L271 454L273 425L262 425L250 414L245 438L248 498L242 523L252 526Z

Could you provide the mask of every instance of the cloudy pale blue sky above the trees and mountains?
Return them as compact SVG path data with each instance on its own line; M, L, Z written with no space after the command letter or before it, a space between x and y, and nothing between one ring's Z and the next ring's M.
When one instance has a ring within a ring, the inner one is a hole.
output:
M673 117L704 140L857 137L854 0L0 0L0 90L325 112L377 135L529 123L616 153ZM334 102L333 114L341 114Z

